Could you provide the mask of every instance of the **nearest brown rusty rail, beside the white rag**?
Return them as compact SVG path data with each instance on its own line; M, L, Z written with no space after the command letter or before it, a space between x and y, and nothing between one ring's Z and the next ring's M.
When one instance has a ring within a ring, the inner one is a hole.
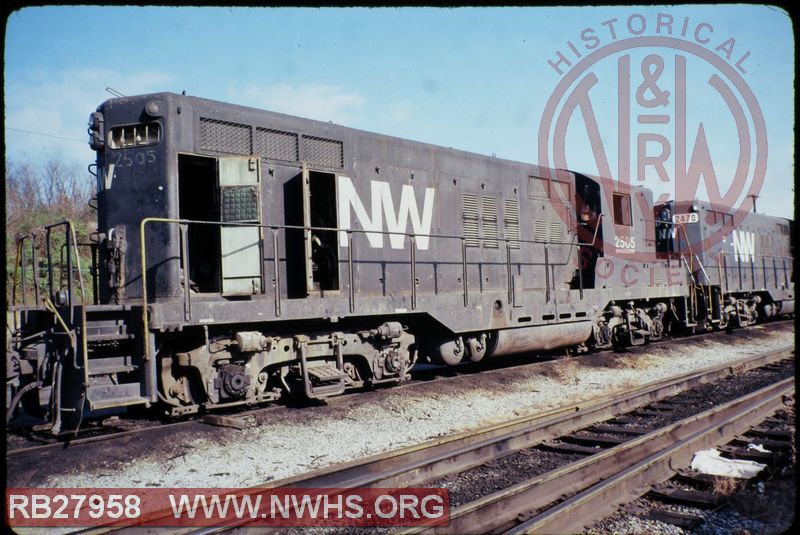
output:
M458 507L447 527L431 531L580 532L671 479L695 452L749 431L793 392L794 379L784 379Z

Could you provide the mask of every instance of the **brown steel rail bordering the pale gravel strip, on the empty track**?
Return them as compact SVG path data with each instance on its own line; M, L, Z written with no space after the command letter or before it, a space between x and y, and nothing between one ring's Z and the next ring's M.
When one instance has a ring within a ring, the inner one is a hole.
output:
M734 373L745 372L785 360L793 354L793 347L759 353L724 365L648 383L623 395L617 393L602 396L594 400L560 407L544 413L522 416L477 431L465 431L419 445L377 454L365 459L332 465L313 472L271 481L256 488L242 489L241 494L257 494L263 492L265 488L347 489L422 486L440 477L485 464L490 460L535 446L544 440L557 438L613 418L619 414L630 412L683 390L713 382ZM672 440L669 433L667 437ZM635 442L638 443L639 441L640 439L637 439ZM595 470L596 459L597 456L592 456L591 460L585 460L580 464L582 470L578 472L578 481L585 480L587 478L586 474L590 474ZM607 474L606 477L618 471L619 469L617 468L617 470ZM563 492L562 490L561 493ZM459 508L451 512L451 522L447 527L430 528L422 526L408 530L407 533L422 532L427 529L457 533L463 531L485 532L486 529L484 528L486 526L484 524L491 521L489 517L501 514L506 507L500 497L495 496L496 501L490 501L489 498L467 504L465 507L497 503L499 505L494 507L499 507L499 510L485 512L481 508L480 512L472 514L470 512L471 509ZM530 503L530 497L526 497L525 501L520 505L520 512L529 511ZM515 513L515 516L516 514L518 513ZM157 525L158 519L166 518L170 515L172 515L171 510L165 510L163 514L155 515L151 519L152 525ZM462 518L465 520L462 521ZM224 526L193 529L187 532L196 535L217 533L229 530L232 527L245 526L248 522L249 519L240 519L227 522ZM454 526L455 529L453 529ZM271 532L271 528L261 529L266 530L265 532Z

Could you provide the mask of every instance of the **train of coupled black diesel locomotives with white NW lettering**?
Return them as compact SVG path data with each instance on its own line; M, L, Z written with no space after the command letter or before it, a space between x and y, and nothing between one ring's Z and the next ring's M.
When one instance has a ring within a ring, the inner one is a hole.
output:
M171 93L108 100L89 134L91 280L50 225L9 311L7 419L54 432L794 313L786 219Z

